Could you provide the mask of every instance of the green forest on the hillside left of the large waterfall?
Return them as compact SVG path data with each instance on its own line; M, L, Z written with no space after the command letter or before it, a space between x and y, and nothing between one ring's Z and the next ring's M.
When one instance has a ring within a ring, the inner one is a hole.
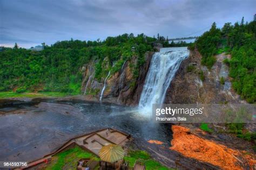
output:
M102 68L102 62L107 58L108 67L117 72L125 60L138 57L138 65L133 66L134 72L145 61L144 53L152 51L149 42L155 38L139 34L123 34L117 37L107 37L104 41L57 41L51 46L45 46L42 51L31 51L19 48L4 48L0 52L0 91L14 90L17 93L25 91L57 91L69 94L79 94L82 84L82 66L96 61L96 79L104 76L109 70ZM135 51L131 48L135 47Z

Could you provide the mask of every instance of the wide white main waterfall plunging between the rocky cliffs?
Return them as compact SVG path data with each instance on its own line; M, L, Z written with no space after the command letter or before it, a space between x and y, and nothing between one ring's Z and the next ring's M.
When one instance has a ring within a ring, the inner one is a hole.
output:
M154 53L139 100L139 108L151 110L152 104L164 103L166 90L181 61L189 55L186 47L161 48Z

